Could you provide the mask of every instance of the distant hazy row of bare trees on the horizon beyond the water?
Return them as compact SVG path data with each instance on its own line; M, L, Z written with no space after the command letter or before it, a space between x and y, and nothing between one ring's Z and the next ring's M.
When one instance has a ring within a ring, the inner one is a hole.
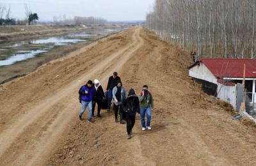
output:
M66 15L53 17L54 24L57 25L86 25L86 26L99 26L108 23L108 20L100 17L79 17L76 16L74 19L67 19Z

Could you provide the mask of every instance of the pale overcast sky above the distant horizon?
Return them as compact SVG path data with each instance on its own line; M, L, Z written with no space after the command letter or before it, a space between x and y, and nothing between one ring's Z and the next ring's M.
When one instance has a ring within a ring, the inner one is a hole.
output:
M94 16L107 20L145 20L155 0L0 0L11 7L11 17L26 18L24 4L39 20L52 20L53 16Z

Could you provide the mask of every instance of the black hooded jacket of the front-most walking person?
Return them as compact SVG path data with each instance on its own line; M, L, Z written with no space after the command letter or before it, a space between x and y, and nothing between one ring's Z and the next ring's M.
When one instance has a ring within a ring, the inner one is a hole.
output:
M124 100L123 110L129 115L135 115L140 112L140 102L136 96L134 89L130 89L127 98Z

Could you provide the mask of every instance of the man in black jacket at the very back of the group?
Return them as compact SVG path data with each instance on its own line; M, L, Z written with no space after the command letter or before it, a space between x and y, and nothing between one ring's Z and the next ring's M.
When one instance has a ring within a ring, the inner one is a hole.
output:
M111 100L113 98L113 88L117 86L117 82L121 82L120 77L117 76L117 73L114 72L113 76L110 76L108 79L108 86L107 86L107 91L108 91L108 111L110 111L111 107Z

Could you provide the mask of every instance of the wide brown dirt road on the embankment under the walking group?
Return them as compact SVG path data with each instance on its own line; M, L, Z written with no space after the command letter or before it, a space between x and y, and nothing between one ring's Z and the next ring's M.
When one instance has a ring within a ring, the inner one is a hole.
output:
M186 54L134 27L4 84L0 165L255 165L255 128L202 93L189 64ZM152 130L141 131L137 115L131 140L113 110L92 124L77 117L79 87L97 78L106 89L114 71L127 91L148 84L154 96Z

